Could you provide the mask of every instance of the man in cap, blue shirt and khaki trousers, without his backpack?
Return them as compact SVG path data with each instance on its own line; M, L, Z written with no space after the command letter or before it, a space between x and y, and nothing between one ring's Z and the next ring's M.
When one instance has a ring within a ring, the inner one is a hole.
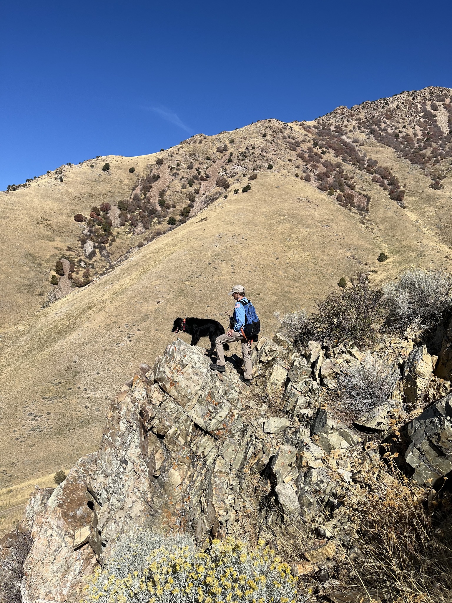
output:
M215 339L216 345L216 356L218 360L216 364L211 364L210 368L213 371L219 371L219 373L224 373L226 370L225 360L224 360L224 349L223 346L225 343L231 343L232 341L241 341L242 342L242 356L243 356L243 368L244 376L240 375L240 380L243 381L245 385L251 384L251 371L253 370L253 365L251 363L251 339L248 341L245 337L245 305L249 303L249 301L245 297L245 289L242 285L236 285L233 287L232 291L228 293L228 295L232 295L234 300L236 300L236 305L234 306L234 314L232 316L234 326L232 329L229 329L227 333L224 335L220 335Z

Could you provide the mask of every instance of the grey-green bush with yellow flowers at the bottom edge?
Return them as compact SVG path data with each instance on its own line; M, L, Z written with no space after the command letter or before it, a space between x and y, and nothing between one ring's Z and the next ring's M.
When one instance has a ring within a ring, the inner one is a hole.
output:
M137 531L85 589L85 602L295 603L297 578L260 542L214 540L199 551L185 537Z

